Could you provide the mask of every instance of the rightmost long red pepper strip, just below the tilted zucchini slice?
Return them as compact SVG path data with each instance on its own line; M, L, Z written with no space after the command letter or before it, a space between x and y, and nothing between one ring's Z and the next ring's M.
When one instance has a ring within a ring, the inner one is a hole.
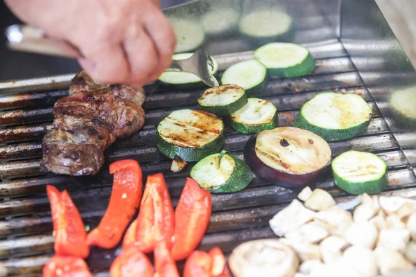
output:
M209 224L211 194L200 188L195 180L187 178L175 210L175 235L172 257L187 258L196 249Z

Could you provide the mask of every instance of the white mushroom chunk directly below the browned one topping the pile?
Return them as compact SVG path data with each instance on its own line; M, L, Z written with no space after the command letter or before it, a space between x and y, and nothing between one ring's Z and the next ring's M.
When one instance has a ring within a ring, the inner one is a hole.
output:
M352 214L343 208L332 206L316 213L314 221L324 224L330 235L343 235L352 224Z

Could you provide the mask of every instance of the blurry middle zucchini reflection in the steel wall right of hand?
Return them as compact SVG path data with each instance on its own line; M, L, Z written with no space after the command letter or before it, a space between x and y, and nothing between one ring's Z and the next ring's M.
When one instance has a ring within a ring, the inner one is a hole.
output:
M240 13L234 8L216 8L202 16L201 25L206 35L218 37L235 30L239 19Z

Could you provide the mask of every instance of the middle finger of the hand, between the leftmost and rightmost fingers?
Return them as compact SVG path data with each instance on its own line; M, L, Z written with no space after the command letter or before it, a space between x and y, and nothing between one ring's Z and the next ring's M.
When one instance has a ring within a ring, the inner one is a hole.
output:
M135 30L123 43L125 55L130 65L129 84L145 84L157 68L159 57L150 37L143 29Z

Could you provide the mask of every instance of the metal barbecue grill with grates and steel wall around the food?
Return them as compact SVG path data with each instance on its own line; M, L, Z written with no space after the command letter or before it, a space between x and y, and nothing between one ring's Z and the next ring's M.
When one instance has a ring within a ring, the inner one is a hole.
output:
M218 3L217 3L218 2ZM209 10L221 1L191 3L193 13ZM263 1L231 1L241 13ZM392 116L388 96L401 87L416 84L416 73L374 0L286 0L279 4L294 19L291 41L307 46L317 67L304 78L269 80L260 98L270 100L279 111L279 126L293 125L306 102L322 91L357 93L370 104L374 118L367 131L354 139L329 143L333 156L347 150L374 152L388 164L389 186L383 195L416 197L416 132ZM200 9L200 7L204 9ZM167 15L183 13L173 8ZM239 35L206 39L203 46L214 55L220 71L252 57L254 46ZM154 137L162 118L175 109L198 109L203 91L178 90L159 82L146 86L146 123L137 134L117 141L105 152L106 164L98 175L69 177L40 170L42 136L51 128L53 103L66 96L73 74L31 80L0 82L0 276L36 276L53 256L53 236L46 184L67 189L85 224L95 227L110 199L112 176L108 164L136 159L144 176L163 172L173 204L184 186L187 170L173 173L171 161L155 148ZM416 103L415 103L416 108ZM225 146L243 159L249 135L226 128ZM413 166L413 167L412 167ZM354 196L334 186L332 177L318 184L337 202ZM220 246L229 253L243 241L272 238L268 220L297 197L297 190L273 186L254 177L238 193L213 195L211 223L200 249ZM93 248L87 259L97 276L106 276L121 247Z

